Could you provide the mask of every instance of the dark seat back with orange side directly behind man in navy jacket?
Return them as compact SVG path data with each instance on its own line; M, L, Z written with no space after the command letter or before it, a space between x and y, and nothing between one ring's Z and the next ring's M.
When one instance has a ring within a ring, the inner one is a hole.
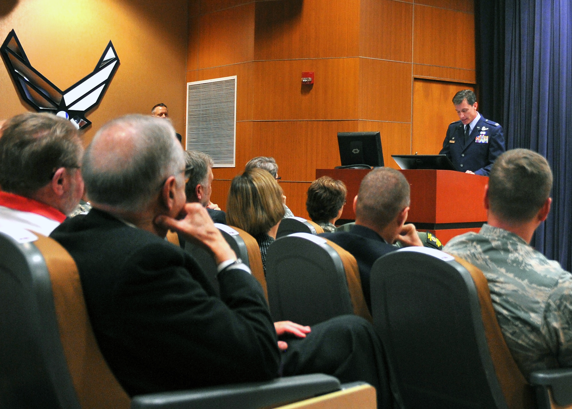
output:
M372 320L358 264L333 242L308 233L281 237L268 247L266 271L275 321L313 325L343 314Z

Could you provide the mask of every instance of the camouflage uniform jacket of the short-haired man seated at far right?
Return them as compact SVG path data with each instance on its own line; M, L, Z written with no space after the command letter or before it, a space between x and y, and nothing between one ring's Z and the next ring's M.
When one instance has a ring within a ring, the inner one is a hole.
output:
M572 274L522 238L483 225L451 239L443 251L482 270L496 319L523 375L572 367Z

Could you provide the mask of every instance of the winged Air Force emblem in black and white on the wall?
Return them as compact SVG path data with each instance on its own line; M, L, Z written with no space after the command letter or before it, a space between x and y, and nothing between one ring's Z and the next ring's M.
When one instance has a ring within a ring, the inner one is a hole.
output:
M0 54L24 101L38 112L69 119L79 129L91 124L85 113L100 103L119 66L119 58L109 41L93 72L61 91L31 66L14 30L0 47Z

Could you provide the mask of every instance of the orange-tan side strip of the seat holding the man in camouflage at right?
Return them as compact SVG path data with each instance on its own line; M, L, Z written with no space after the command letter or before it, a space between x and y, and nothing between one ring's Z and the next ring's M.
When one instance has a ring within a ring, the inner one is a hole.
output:
M507 406L509 409L534 408L533 390L515 363L496 320L486 277L481 270L464 259L455 257L455 260L471 273L472 281L475 282L480 313L483 317L484 335Z

